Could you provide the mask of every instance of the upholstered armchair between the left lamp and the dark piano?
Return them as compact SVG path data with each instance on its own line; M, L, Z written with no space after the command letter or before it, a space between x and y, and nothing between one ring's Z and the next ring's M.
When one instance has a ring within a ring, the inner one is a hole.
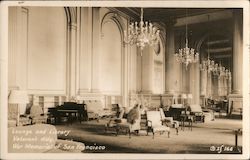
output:
M31 123L47 123L48 116L43 113L42 107L39 105L33 105L30 108Z

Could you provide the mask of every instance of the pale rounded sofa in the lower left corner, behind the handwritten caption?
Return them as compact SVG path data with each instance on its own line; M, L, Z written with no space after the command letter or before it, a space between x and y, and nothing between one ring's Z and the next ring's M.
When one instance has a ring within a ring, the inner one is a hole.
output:
M8 128L9 153L81 153L84 143L57 138L55 126L50 124L35 124Z

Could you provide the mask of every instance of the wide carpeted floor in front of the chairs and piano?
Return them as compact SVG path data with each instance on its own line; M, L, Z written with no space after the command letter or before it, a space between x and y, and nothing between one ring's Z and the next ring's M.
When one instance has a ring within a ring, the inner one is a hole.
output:
M170 138L167 134L156 134L152 138L145 131L140 131L129 138L128 134L115 130L105 132L107 119L99 122L75 122L71 124L56 125L57 130L69 131L68 135L58 134L61 139L79 141L85 144L83 152L93 153L170 153L170 154L217 154L241 153L242 135L238 136L238 146L235 146L234 129L242 128L241 120L216 119L207 123L193 124L193 130L185 128L176 135L171 129ZM93 149L94 148L94 149ZM233 149L233 150L230 150Z

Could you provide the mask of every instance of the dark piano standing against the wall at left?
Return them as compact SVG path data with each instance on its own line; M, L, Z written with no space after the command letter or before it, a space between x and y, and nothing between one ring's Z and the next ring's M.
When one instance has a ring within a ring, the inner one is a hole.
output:
M69 123L74 120L87 120L87 111L85 104L77 104L75 102L64 102L63 105L48 108L51 118L54 118L54 123L59 124L62 118L66 118ZM52 123L52 122L51 122Z

